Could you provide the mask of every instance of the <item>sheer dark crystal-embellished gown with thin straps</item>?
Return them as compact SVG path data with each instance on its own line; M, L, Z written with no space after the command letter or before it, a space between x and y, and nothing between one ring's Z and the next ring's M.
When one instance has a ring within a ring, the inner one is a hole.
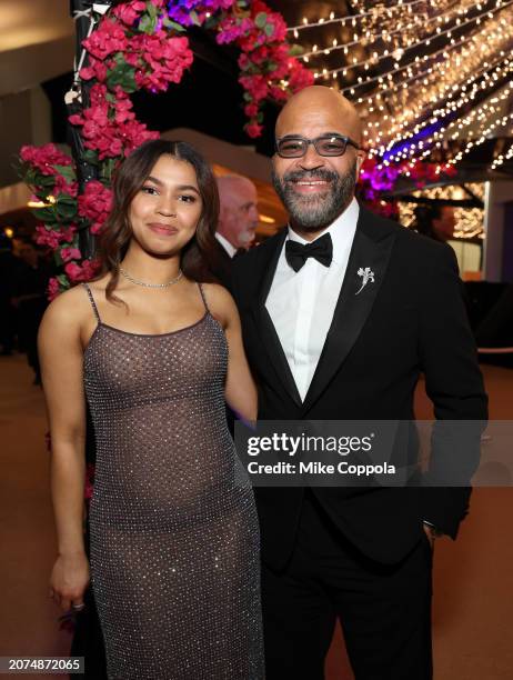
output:
M210 314L159 334L102 323L84 353L97 441L91 582L109 679L262 680L259 527L227 428Z

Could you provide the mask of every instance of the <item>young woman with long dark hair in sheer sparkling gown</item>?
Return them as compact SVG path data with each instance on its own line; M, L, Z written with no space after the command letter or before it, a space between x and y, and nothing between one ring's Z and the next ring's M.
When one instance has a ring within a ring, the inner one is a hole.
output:
M49 307L39 347L59 554L51 596L91 582L109 678L261 680L259 529L224 400L256 418L229 293L201 283L215 181L184 142L122 164L102 270ZM91 556L82 536L86 401L97 443Z

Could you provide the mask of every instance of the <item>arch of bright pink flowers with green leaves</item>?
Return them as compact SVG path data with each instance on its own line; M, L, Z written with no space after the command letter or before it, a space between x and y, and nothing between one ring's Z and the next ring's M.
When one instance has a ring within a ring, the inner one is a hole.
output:
M54 144L20 151L20 173L32 189L40 222L37 241L53 251L61 268L50 281L50 298L93 276L94 262L81 252L79 233L100 231L115 167L143 141L159 137L137 120L130 94L163 92L181 81L193 61L189 27L212 31L218 44L239 50L249 137L261 134L266 100L284 102L314 80L296 59L301 48L286 41L283 18L261 0L131 0L94 4L89 17L90 34L82 41L67 103L77 109L69 122L80 139L79 162L92 168L90 177L78 177L78 163Z

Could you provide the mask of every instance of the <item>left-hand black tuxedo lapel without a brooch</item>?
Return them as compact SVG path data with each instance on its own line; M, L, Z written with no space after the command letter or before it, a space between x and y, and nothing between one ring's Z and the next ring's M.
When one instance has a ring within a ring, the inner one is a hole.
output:
M292 400L301 406L301 397L298 391L294 378L286 361L285 353L278 337L274 323L266 310L265 300L271 289L274 272L276 271L278 260L283 248L283 243L286 237L286 229L279 234L273 243L273 248L269 249L265 257L260 262L260 283L258 286L258 299L253 307L253 313L255 317L256 328L262 338L263 346L266 350L266 354L279 377L283 388Z

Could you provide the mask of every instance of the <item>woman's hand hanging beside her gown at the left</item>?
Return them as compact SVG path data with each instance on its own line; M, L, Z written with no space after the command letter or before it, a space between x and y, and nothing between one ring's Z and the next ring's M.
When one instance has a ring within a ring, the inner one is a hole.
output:
M63 611L83 609L83 593L89 586L89 561L84 552L60 554L53 564L50 593Z

